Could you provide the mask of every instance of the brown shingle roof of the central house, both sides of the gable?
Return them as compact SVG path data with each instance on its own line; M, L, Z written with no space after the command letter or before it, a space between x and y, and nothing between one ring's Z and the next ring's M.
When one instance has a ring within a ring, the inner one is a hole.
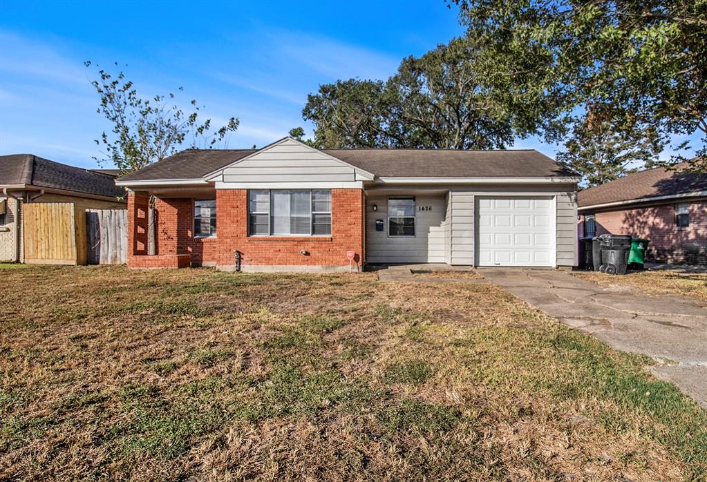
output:
M257 151L188 149L132 172L121 181L194 180ZM532 149L454 151L443 149L323 149L378 177L565 177L573 172Z

